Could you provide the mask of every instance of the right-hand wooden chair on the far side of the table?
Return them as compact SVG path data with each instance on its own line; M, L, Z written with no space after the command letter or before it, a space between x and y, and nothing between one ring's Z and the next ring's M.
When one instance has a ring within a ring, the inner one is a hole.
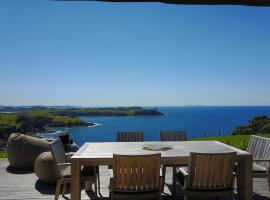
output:
M160 141L186 141L187 133L186 131L160 131ZM163 183L162 188L165 184L165 176L167 167L173 168L173 184L172 184L172 194L175 195L176 190L176 166L175 165L162 165L162 175Z

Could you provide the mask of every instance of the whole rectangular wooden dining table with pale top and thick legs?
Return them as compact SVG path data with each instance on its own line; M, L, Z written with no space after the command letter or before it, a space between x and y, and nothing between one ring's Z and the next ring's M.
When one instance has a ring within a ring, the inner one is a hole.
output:
M113 154L144 155L161 153L161 164L188 165L190 152L225 153L236 152L237 195L239 200L251 200L252 154L218 141L177 142L89 142L71 157L71 200L81 199L81 166L112 165Z

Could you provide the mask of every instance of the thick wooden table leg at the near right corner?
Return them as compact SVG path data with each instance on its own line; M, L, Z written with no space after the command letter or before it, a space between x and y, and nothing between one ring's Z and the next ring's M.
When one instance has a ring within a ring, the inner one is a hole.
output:
M238 163L237 195L239 200L252 200L253 176L252 155L245 156Z

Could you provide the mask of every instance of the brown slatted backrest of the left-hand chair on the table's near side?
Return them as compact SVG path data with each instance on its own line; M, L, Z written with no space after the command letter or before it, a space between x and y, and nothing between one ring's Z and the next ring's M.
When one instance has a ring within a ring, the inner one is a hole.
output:
M160 190L161 154L113 155L113 190L153 192Z

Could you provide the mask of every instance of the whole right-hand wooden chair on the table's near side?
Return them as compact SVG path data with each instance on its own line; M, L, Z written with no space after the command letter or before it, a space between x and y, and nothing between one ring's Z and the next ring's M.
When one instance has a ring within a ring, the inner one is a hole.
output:
M190 153L188 170L179 168L178 179L185 200L233 196L236 153Z

